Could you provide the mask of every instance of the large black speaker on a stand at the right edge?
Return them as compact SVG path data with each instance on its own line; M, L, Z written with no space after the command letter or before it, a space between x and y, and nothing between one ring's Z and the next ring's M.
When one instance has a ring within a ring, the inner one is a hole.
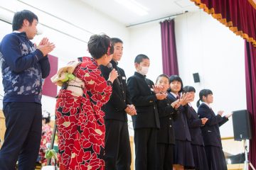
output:
M247 110L233 111L233 130L235 140L252 139L252 123Z

